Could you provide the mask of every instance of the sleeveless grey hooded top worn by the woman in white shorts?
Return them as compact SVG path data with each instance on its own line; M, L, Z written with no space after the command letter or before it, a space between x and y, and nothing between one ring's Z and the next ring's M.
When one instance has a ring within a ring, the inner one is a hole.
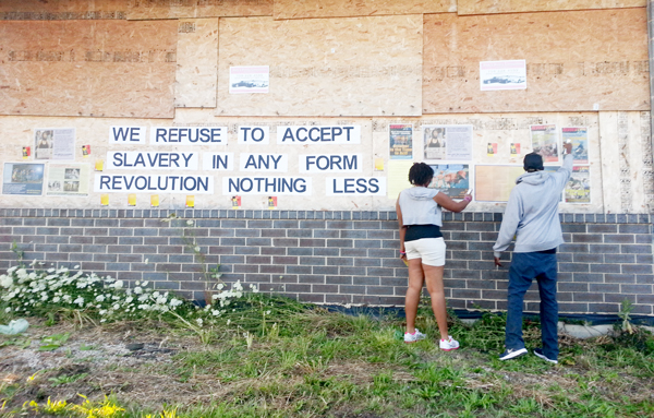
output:
M440 206L434 201L438 194L436 189L414 187L400 193L400 208L404 225L438 225L443 226Z

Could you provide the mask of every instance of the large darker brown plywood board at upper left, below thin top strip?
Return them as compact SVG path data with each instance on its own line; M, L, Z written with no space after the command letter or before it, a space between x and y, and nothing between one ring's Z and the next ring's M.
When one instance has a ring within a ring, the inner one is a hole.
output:
M177 22L0 23L0 115L171 118Z

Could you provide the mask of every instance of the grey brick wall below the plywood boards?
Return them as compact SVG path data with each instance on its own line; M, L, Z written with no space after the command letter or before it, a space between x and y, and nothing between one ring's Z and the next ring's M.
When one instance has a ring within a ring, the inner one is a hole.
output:
M173 213L180 219L168 222ZM616 313L627 298L634 313L653 315L650 215L561 220L561 313ZM500 222L501 214L444 214L450 307L506 309L509 263L495 268L492 252ZM407 285L393 212L0 208L0 270L16 264L12 242L26 260L150 280L194 299L205 289L195 246L227 282L315 303L403 306ZM537 311L537 300L534 285L525 309Z

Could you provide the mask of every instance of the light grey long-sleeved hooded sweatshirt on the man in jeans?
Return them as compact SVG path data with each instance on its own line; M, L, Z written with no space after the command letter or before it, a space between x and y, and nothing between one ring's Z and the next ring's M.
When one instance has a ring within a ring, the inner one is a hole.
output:
M518 177L493 246L495 256L499 258L509 247L513 235L513 252L552 250L564 243L558 203L571 172L572 155L568 154L556 172L525 172Z

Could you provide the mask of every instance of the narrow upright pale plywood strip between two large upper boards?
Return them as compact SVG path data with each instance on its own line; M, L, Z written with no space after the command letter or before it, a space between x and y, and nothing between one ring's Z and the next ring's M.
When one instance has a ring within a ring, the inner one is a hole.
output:
M175 107L216 107L218 19L186 19L178 25Z

